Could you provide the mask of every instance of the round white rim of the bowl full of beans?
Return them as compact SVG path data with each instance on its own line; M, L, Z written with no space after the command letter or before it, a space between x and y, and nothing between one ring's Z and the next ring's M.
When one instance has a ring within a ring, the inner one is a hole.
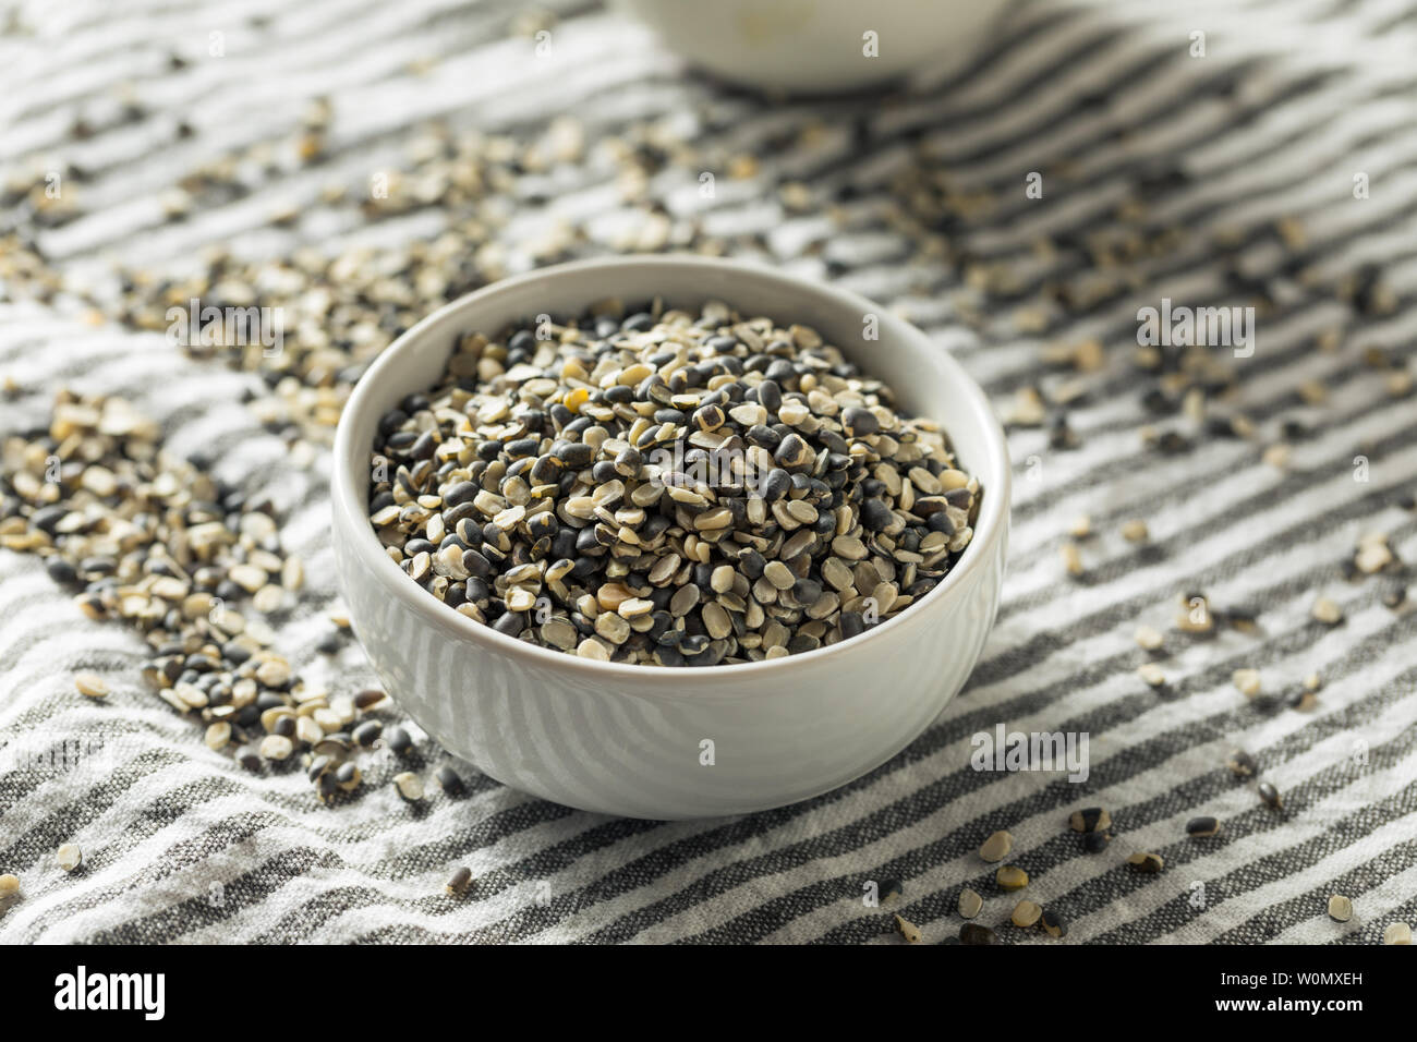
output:
M930 610L938 610L958 587L964 586L969 576L988 567L988 561L993 557L995 546L1007 532L1009 500L1012 495L1012 469L1009 464L1007 441L1003 434L1003 427L1000 425L998 415L995 415L995 411L989 404L989 398L979 384L965 371L959 362L948 350L941 346L934 346L934 350L938 352L938 360L947 370L952 370L952 377L956 380L965 401L968 403L966 421L978 425L981 434L983 435L986 455L989 456L989 469L998 474L999 478L993 488L985 489L983 503L981 506L978 523L975 525L973 539L969 540L969 546L965 547L965 553L959 559L958 564L951 568L944 580L941 580L918 603L908 605L907 611L901 611L898 615L871 627L857 637L839 641L837 644L823 648L799 652L796 655L784 655L782 658L762 659L757 662L720 662L718 665L711 666L660 666L635 662L601 662L599 659L581 658L575 654L543 648L537 644L509 637L497 629L493 629L485 622L478 622L459 614L436 597L429 595L417 583L411 583L402 568L400 568L384 551L383 544L374 534L374 527L368 523L364 505L360 502L360 496L356 495L354 491L359 483L357 472L363 466L360 458L364 452L370 451L368 448L361 448L361 445L356 442L354 428L359 425L360 414L373 408L370 405L370 400L374 396L373 388L378 384L380 377L397 366L397 359L401 352L407 350L410 344L421 340L429 329L442 325L453 313L475 310L479 305L529 284L555 281L558 278L565 278L585 271L611 271L614 268L631 268L646 264L677 268L710 268L718 272L726 272L728 276L737 275L760 282L767 281L788 285L798 292L805 291L809 295L835 299L835 303L857 309L862 313L879 315L881 332L879 344L888 343L891 339L915 339L924 342L920 346L925 346L925 343L928 343L928 336L921 329L905 319L890 313L887 309L873 303L860 293L815 279L789 275L775 268L758 267L743 261L697 257L693 254L622 254L615 257L568 261L565 264L536 268L520 275L503 278L470 293L465 293L456 301L449 301L417 322L414 326L404 330L404 333L394 339L394 342L376 357L373 364L370 364L356 383L349 401L344 403L334 434L330 509L339 516L333 519L333 537L336 540L343 539L340 530L340 520L343 517L344 525L347 525L350 532L354 533L354 537L349 540L349 549L353 550L360 564L368 568L370 574L380 583L381 588L385 590L390 597L394 597L428 622L444 629L452 629L456 635L470 641L473 645L512 659L520 659L529 666L546 666L555 671L570 671L572 673L584 671L587 672L587 679L594 680L619 678L683 682L690 676L696 680L707 679L710 676L717 676L723 680L735 680L748 679L748 676L762 676L771 671L784 672L789 666L802 666L808 661L813 665L826 665L829 658L850 655L853 649L860 651L871 641L871 638L879 637L879 634L896 628L901 622L920 621ZM731 301L726 302L731 305ZM370 417L367 424L370 435L373 435L374 424L377 424L377 417ZM949 435L948 427L945 428L945 435ZM983 469L978 466L978 462L983 461L972 462L972 469L969 471L972 475L978 475L979 471ZM914 617L914 620L910 617Z

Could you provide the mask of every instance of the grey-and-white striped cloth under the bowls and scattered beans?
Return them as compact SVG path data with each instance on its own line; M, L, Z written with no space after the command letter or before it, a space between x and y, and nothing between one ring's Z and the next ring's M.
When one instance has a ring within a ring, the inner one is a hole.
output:
M1382 603L1376 580L1342 573L1366 532L1417 559L1417 517L1397 505L1417 478L1417 407L1363 364L1369 347L1406 364L1417 343L1417 4L1020 4L947 84L886 102L785 105L686 77L639 27L598 7L547 7L560 14L550 67L529 61L513 7L499 3L21 4L0 33L4 159L82 169L82 217L40 237L47 258L82 282L115 259L179 264L218 241L279 254L302 238L432 235L427 213L359 228L266 224L276 201L309 203L329 177L359 181L393 163L425 118L516 132L570 115L594 140L626 121L713 111L711 125L690 128L696 143L757 155L757 177L733 190L721 179L713 200L693 191L694 172L650 186L699 207L704 234L891 305L954 352L1000 410L1044 379L1040 347L1088 337L1107 347L1094 393L1070 410L1076 448L1051 448L1037 428L1010 434L1010 573L968 688L869 775L737 819L602 818L509 791L466 764L465 797L439 792L415 814L388 784L400 767L387 753L367 764L363 798L326 808L298 771L252 775L205 749L198 726L143 688L135 634L86 621L35 559L0 551L0 872L21 879L21 897L0 909L0 941L898 943L890 916L863 902L864 883L891 878L904 889L891 910L935 941L958 931L962 886L986 896L978 921L1007 919L1015 897L976 853L996 829L1013 834L1010 861L1030 873L1032 899L1070 919L1067 943L1372 943L1386 923L1417 917L1417 622ZM217 31L225 57L169 67L174 50L204 54ZM1195 31L1206 34L1204 57L1190 54ZM419 60L425 68L410 71ZM108 126L122 89L143 115ZM160 193L186 169L292 132L316 96L336 116L313 174L162 223ZM102 128L82 140L69 136L79 112ZM170 125L194 112L197 133L169 146ZM813 143L778 143L808 119L825 128ZM864 146L853 126L866 128ZM1066 252L1037 251L1040 240L1107 228L1158 164L1187 174L1149 201L1189 245L1129 261L1134 296L1046 332L1015 315L968 322L956 276L880 218L911 149L928 149L954 190L999 200L988 220L952 230L951 244L1013 265L1024 289L1068 265ZM1024 197L1029 172L1044 173L1043 200ZM580 173L558 206L588 218L588 251L614 248L616 204L595 170ZM1353 197L1356 173L1367 198ZM786 179L852 186L845 215L785 213L771 186ZM1376 264L1397 308L1367 316L1305 292L1272 234L1282 218L1302 223L1318 285ZM1166 296L1236 303L1230 262L1274 286L1257 350L1237 363L1237 405L1258 434L1158 455L1142 445L1155 418L1129 364L1136 309ZM1333 327L1345 330L1339 347L1318 350ZM317 652L334 603L329 462L292 455L238 404L244 391L266 393L259 379L186 359L160 335L26 299L0 302L0 374L20 384L0 434L43 424L60 386L119 393L164 424L170 447L269 492L310 577L279 649L336 690L374 683L357 648ZM1302 397L1305 381L1326 387L1328 401ZM1308 435L1278 468L1264 445L1291 420ZM1058 550L1081 513L1098 534L1084 543L1085 574L1070 578ZM1138 516L1151 529L1145 549L1118 536ZM1169 638L1168 685L1152 689L1136 675L1146 655L1134 631L1168 629L1190 590L1257 608L1260 629ZM1342 605L1343 625L1311 618L1321 594ZM1270 690L1321 672L1316 707L1261 710L1234 689L1238 668L1260 669ZM115 693L102 703L77 695L78 669L103 673ZM971 736L999 723L1087 733L1088 780L972 770ZM1224 768L1237 746L1284 794L1284 812ZM448 761L427 740L418 753L429 773ZM1115 822L1101 853L1084 853L1066 824L1087 805ZM1187 839L1196 815L1219 818L1220 835ZM62 842L82 846L82 872L57 866ZM1134 851L1163 855L1165 872L1131 870ZM462 900L442 893L456 865L476 879ZM1331 893L1353 899L1350 923L1326 917ZM1000 937L1056 943L1010 929Z

